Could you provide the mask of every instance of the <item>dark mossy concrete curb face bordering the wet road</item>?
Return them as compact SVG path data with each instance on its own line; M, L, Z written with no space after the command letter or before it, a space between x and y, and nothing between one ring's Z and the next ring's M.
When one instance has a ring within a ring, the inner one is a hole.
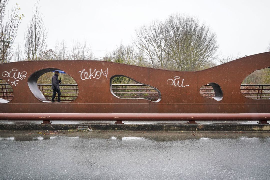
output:
M125 131L270 131L270 124L0 124L0 130L69 130L88 126L93 130Z

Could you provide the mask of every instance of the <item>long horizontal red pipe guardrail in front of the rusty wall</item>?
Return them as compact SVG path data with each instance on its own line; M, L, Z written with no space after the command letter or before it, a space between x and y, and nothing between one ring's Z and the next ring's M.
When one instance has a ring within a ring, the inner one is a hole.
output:
M159 113L0 113L0 120L95 120L95 121L258 121L270 120L270 113L159 114Z

